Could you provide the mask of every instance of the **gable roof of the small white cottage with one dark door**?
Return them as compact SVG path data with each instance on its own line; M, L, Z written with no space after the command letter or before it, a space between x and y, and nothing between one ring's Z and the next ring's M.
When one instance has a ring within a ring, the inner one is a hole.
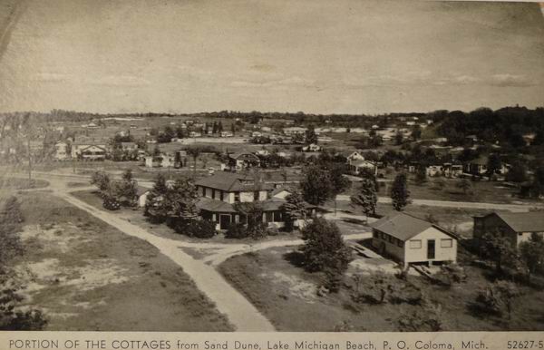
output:
M370 226L393 236L394 238L398 238L403 242L410 238L414 238L428 228L436 228L444 234L457 239L451 232L448 232L429 221L413 217L412 215L403 212L386 215L384 218L375 221Z

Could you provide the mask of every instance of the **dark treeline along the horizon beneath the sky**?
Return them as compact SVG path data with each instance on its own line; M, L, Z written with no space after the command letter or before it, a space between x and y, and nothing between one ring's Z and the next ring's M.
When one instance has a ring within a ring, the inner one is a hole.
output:
M154 117L188 117L193 119L226 118L257 123L262 120L285 120L295 124L321 125L330 122L345 127L369 127L377 124L380 127L391 126L399 119L417 117L431 119L439 126L437 133L447 137L453 143L461 142L467 135L476 135L483 141L514 141L529 132L544 130L544 108L530 110L526 107L504 107L493 111L489 108L479 108L472 112L462 111L434 111L434 112L399 112L384 114L314 114L305 112L199 112L199 113L116 113L99 114L90 112L74 112L53 110L44 112L14 112L2 113L5 116L26 116L35 122L89 122L93 119L108 117L118 118L154 118ZM520 140L518 140L520 141Z

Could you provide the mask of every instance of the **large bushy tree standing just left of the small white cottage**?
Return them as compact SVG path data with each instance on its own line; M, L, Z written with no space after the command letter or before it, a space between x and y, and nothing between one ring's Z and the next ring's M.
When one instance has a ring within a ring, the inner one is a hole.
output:
M300 251L306 270L325 272L329 289L335 290L338 287L338 277L344 274L353 259L340 229L333 222L316 218L302 229L302 239L305 244Z

